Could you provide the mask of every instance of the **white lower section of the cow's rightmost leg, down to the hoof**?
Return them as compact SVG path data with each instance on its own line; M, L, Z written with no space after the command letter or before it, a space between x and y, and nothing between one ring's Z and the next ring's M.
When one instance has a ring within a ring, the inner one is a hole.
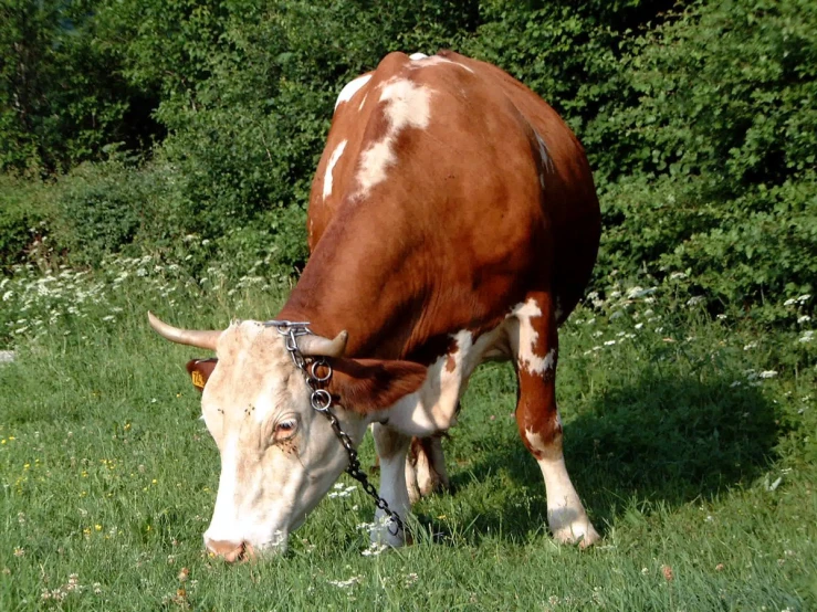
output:
M532 449L541 451L547 456L547 449L538 433L525 430L525 437ZM585 507L582 505L582 500L570 482L570 476L567 474L564 456L542 458L538 460L538 464L545 479L547 524L551 531L553 531L553 537L561 542L582 540L583 546L598 540L598 534L594 529L590 519L587 518Z

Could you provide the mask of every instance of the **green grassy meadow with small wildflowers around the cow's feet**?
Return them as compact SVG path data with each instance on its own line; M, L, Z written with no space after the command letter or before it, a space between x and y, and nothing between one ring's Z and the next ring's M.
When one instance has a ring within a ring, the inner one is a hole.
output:
M0 284L0 349L17 350L0 365L0 610L817 609L810 323L712 321L669 284L612 286L562 333L566 458L599 546L548 537L513 372L492 365L446 442L455 490L416 507L415 546L368 555L356 487L284 558L209 558L219 457L184 370L203 356L145 312L270 318L286 287L262 268L191 279L146 257ZM370 439L362 452L370 464Z

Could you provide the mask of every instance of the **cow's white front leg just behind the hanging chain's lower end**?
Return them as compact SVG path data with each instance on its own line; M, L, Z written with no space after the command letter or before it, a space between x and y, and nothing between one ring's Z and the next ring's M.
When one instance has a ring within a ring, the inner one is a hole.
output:
M406 455L411 436L398 433L379 423L375 423L371 433L375 437L377 455L380 457L380 497L386 500L392 511L399 515L405 525L411 511L406 488ZM406 542L406 535L397 530L388 515L378 508L375 513L371 541L397 547Z

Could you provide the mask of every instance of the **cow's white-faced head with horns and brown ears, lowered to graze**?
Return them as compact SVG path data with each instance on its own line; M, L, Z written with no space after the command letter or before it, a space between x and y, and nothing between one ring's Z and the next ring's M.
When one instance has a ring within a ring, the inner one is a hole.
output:
M203 388L202 418L221 453L221 476L207 548L233 561L283 551L286 540L348 464L323 414L311 404L303 372L285 339L259 321L223 331L171 327L148 313L151 327L174 342L214 350L218 361L190 362ZM345 359L346 333L302 336L306 357L326 357L333 412L358 444L378 411L422 384L426 368L408 361Z

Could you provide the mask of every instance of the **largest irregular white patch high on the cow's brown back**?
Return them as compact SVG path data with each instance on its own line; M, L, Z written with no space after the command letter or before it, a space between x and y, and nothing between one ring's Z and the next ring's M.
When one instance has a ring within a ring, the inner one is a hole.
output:
M383 85L380 102L385 102L384 115L389 122L381 140L371 144L360 156L357 172L358 196L366 193L386 180L389 167L397 163L394 144L405 128L425 129L431 119L432 91L416 85L407 78L391 78Z

